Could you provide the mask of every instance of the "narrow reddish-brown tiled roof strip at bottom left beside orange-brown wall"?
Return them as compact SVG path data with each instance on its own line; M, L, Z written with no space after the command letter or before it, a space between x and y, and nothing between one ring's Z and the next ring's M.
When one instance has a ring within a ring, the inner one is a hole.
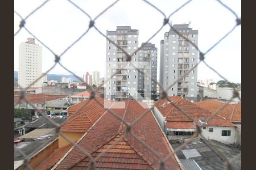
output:
M55 150L47 157L47 159L40 163L35 170L51 169L53 165L55 165L56 162L58 162L71 147L72 145L68 145Z

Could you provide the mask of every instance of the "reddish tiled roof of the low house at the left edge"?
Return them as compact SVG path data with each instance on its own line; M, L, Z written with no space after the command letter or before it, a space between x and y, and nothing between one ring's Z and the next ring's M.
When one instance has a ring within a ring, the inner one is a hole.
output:
M27 100L30 101L31 103L44 103L44 97L45 97L45 101L50 101L50 100L66 97L66 95L46 95L46 94L35 94L35 95L27 94L26 95ZM18 101L19 101L18 97L14 98L14 103ZM25 103L25 102L26 101L23 99L20 101L20 103Z

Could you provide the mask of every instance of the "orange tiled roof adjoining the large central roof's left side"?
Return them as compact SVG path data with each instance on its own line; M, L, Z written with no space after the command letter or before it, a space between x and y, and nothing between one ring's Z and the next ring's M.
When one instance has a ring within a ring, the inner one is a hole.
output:
M100 97L97 97L97 100L103 103L103 99ZM84 104L82 102L81 105L76 105L76 109L78 110ZM101 107L95 99L92 99L81 111L68 117L68 121L61 127L61 130L86 132L105 112L106 109Z

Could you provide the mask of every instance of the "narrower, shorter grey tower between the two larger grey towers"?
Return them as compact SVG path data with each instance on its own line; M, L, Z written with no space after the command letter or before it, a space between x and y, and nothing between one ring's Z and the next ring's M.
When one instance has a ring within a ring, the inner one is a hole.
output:
M138 92L144 99L156 99L157 61L158 49L150 42L142 43L142 49L138 52L138 67L144 74L138 73Z

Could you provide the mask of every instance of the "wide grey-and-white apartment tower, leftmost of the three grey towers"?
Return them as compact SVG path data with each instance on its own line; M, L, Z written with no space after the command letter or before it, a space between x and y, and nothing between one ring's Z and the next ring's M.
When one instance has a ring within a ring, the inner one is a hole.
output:
M121 46L128 54L138 49L138 29L131 29L130 26L117 26L116 31L106 31L106 36ZM134 54L131 62L138 62L138 55ZM110 78L116 71L117 75L105 82L105 98L108 100L121 101L125 99L137 99L138 96L138 71L127 66L126 54L117 48L111 41L106 39L106 77Z

